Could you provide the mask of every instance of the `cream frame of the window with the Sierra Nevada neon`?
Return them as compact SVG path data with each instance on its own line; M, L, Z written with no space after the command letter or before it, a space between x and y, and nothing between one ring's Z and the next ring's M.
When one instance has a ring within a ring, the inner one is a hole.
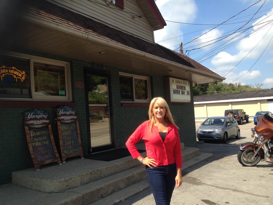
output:
M5 98L9 100L24 100L24 101L72 101L72 89L71 89L71 72L70 72L70 63L60 60L53 60L49 58L42 58L38 56L31 56L27 54L20 54L20 53L13 53L13 52L3 52L3 54L11 55L11 56L17 56L22 58L28 58L30 59L30 75L31 75L31 91L32 91L32 98L24 98L24 99L18 99L18 98ZM51 65L59 65L63 66L65 69L65 96L51 96L51 95L35 95L35 87L34 87L34 66L33 62L39 62L39 63L46 63Z

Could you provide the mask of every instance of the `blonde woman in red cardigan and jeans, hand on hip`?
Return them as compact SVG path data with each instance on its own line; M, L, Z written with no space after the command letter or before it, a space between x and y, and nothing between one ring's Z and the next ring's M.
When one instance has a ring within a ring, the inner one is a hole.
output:
M178 134L169 106L157 97L152 99L149 120L138 126L126 146L132 157L146 165L149 185L156 205L169 205L174 187L182 184L182 154ZM147 157L142 157L135 144L143 140Z

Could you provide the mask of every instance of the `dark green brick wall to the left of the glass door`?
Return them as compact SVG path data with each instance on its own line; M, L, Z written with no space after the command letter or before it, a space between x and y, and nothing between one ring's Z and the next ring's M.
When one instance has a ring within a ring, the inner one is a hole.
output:
M75 109L79 120L80 138L82 142L83 154L87 155L87 134L86 134L86 110L85 110L85 94L84 89L74 87L76 81L84 82L83 66L91 66L91 63L81 62L60 56L53 56L51 54L44 54L32 51L17 51L19 53L40 56L55 60L71 62L71 87L73 93L73 102L76 103ZM0 107L1 118L1 136L0 136L0 185L11 182L11 173L13 171L27 169L34 167L28 144L26 141L26 134L24 130L24 118L22 112L34 107L20 107L20 101L17 102L18 107ZM46 110L49 114L53 138L56 144L56 149L61 157L59 136L57 124L54 120L56 118L56 107L35 107ZM56 163L57 165L57 163ZM43 166L43 165L42 165Z

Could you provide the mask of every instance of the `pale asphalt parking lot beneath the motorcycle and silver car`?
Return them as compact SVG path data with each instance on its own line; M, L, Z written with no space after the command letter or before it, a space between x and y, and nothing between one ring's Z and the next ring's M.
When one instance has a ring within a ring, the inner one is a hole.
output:
M200 122L196 123L196 129ZM237 160L238 144L253 141L251 128L254 123L239 125L241 138L221 142L198 143L200 152L213 156L182 172L181 187L175 188L171 205L271 205L273 196L272 163L259 162L244 167ZM119 205L155 204L150 189L124 200Z

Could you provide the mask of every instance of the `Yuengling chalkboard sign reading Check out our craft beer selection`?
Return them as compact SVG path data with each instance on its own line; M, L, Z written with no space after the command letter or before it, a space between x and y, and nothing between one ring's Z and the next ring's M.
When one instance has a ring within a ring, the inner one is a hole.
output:
M70 106L61 106L55 111L63 163L68 157L79 155L83 159L80 129L75 109Z

